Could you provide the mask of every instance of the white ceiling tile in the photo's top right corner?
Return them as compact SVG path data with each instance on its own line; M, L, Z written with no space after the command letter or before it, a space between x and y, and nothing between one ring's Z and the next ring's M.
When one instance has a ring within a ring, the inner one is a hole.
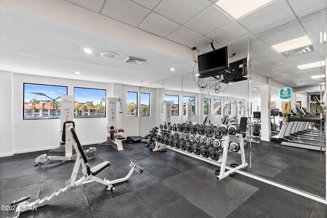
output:
M321 9L327 8L326 0L288 0L288 2L296 14L308 11L316 6L320 6ZM315 9L315 11L318 10Z

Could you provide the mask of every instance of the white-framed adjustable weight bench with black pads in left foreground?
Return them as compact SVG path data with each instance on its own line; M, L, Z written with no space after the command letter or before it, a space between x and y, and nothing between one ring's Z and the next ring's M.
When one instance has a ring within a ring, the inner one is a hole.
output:
M136 164L130 162L128 165L131 166L132 168L130 169L127 176L125 176L123 178L116 179L116 180L113 180L113 181L109 181L106 178L100 179L100 178L96 177L97 174L99 174L104 169L106 169L106 168L108 168L110 166L110 162L109 161L104 161L102 163L99 163L96 166L90 167L90 165L88 164L86 155L84 154L81 143L78 140L78 137L76 135L74 127L70 126L68 128L69 128L71 134L66 135L66 140L68 142L74 142L73 146L74 146L74 148L76 150L76 153L77 153L77 158L76 158L76 161L75 161L75 165L74 165L74 168L73 168L71 179L69 179L69 180L67 180L65 182L65 184L66 184L65 187L60 188L58 191L55 191L49 197L46 196L46 197L44 197L42 199L37 199L37 200L35 200L33 202L29 202L31 197L26 196L26 197L22 197L22 198L20 198L18 200L15 200L15 201L11 202L10 206L12 206L13 208L16 208L13 217L19 217L19 214L21 212L25 212L25 211L28 211L28 210L36 210L37 207L41 207L41 206L44 206L44 205L48 204L51 200L61 197L61 194L64 193L65 191L69 190L69 188L74 188L75 186L95 181L95 182L99 182L101 184L106 185L108 187L107 190L113 191L114 190L114 187L112 186L113 184L124 182L124 181L128 180L129 177L133 174L134 171L137 171L138 173L143 172L143 169L141 167L139 167ZM82 165L83 177L76 181L80 165Z

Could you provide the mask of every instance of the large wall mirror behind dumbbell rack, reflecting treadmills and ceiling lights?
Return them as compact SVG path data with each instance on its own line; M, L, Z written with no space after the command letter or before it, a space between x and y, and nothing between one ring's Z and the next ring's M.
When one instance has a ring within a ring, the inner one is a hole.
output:
M232 83L213 78L199 80L195 67L142 87L141 91L150 90L150 114L155 116L141 117L145 132L167 120L165 101L172 103L172 124L221 125L227 119L228 125L239 125L241 118L246 117L244 144L248 166L242 170L325 199L325 13L228 45L229 63L246 59L246 80ZM294 41L307 43L292 47ZM211 46L207 48L202 52L212 51ZM290 88L291 96L282 99L281 89L286 87ZM285 119L283 122L279 113L282 102L290 102L294 109L288 122ZM192 112L191 119L188 109ZM231 136L230 140L238 138ZM229 154L227 165L240 162L239 155Z

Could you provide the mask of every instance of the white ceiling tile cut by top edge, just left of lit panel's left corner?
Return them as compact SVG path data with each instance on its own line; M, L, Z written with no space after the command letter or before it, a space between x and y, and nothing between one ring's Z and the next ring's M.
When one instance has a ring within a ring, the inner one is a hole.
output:
M183 25L210 5L207 0L164 0L154 11Z

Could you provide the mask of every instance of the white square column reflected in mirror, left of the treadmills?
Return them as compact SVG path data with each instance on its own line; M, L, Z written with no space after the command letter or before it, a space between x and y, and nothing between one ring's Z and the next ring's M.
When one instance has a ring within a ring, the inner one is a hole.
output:
M269 141L271 137L270 101L270 78L268 78L268 85L261 86L261 140L263 141Z

